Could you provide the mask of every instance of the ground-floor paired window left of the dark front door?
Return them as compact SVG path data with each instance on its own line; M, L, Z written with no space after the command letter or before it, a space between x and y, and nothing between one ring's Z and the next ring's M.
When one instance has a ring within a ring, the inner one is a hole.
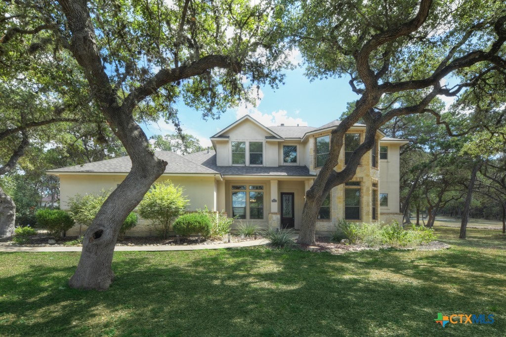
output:
M263 190L264 185L232 185L232 217L237 219L263 219Z

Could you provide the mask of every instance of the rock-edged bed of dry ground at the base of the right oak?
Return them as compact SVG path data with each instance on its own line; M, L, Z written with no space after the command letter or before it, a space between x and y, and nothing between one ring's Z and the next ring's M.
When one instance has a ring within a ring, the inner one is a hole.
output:
M316 237L315 245L299 245L296 244L301 250L310 252L327 252L334 255L340 255L348 252L360 252L364 250L378 251L380 249L399 249L399 250L417 250L417 251L437 251L441 249L448 249L450 245L439 241L432 241L426 245L414 246L414 247L391 247L391 246L378 246L368 247L363 244L346 245L341 243L331 242L327 237Z

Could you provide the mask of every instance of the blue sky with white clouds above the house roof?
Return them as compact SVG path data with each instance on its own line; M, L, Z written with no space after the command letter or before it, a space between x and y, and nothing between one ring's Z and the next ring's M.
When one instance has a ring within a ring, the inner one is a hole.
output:
M294 61L300 62L296 55ZM184 106L177 106L183 130L198 137L203 146L210 146L209 137L230 125L245 114L249 114L266 126L297 125L321 126L338 119L346 110L348 102L358 96L351 91L349 79L335 78L310 82L304 76L304 69L286 72L285 84L274 90L261 87L257 106L239 106L229 109L219 120L204 121L199 112ZM172 133L174 126L162 120L158 125L144 125L144 131L152 134Z

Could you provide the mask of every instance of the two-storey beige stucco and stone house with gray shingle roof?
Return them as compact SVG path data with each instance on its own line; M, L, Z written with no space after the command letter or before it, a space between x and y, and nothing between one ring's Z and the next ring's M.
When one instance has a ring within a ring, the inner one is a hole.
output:
M301 227L305 192L325 163L335 120L321 127L266 127L246 115L210 137L215 151L186 156L159 151L168 165L157 181L171 180L184 188L189 211L225 210L230 217L262 227ZM364 140L365 125L355 124L345 136L337 170ZM353 179L334 187L318 215L317 233L349 221L402 221L399 213L399 154L408 141L376 133L373 151L364 155ZM129 157L49 170L60 177L62 209L69 197L113 189L125 178ZM237 223L237 221L236 221ZM131 235L146 235L138 226ZM72 235L72 232L69 233Z

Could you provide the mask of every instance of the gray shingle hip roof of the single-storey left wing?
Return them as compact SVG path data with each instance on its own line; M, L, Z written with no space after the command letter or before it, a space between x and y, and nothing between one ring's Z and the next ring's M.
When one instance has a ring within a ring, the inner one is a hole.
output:
M191 160L171 151L155 151L158 158L166 161L164 173L203 173L218 174L218 172L199 165ZM130 157L120 157L99 162L88 163L84 165L68 166L54 170L48 170L49 173L59 172L83 172L83 173L128 173L132 168Z

